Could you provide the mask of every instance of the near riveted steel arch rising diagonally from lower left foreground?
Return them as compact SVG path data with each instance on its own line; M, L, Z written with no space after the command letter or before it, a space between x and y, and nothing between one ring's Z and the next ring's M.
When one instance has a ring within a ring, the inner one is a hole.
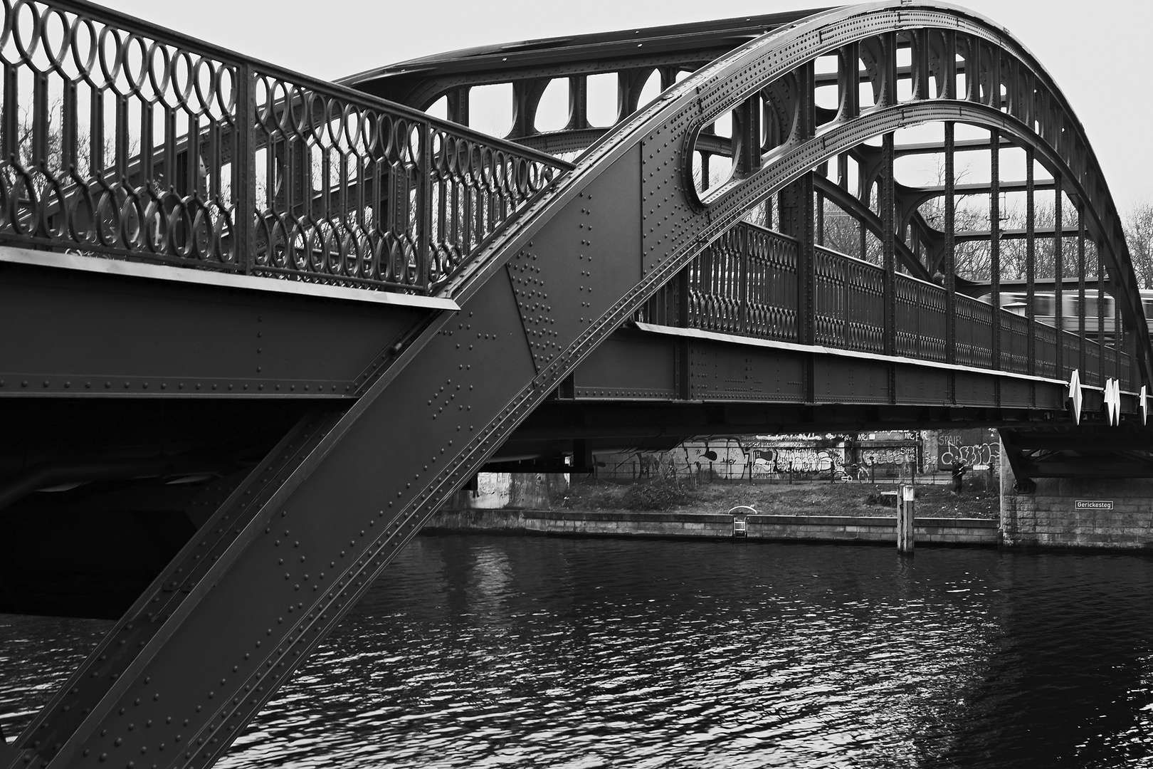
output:
M461 308L455 318L430 321L366 382L354 406L311 414L233 492L202 529L219 538L204 552L203 541L189 543L158 578L25 732L23 756L54 767L98 766L100 756L152 761L167 740L182 746L165 757L168 766L210 766L444 498L653 292L758 202L872 136L965 120L1048 153L1091 204L1129 289L1130 321L1141 321L1123 239L1111 240L1116 211L1064 114L1047 118L1058 127L1038 120L1034 130L970 99L882 104L774 149L714 199L696 199L687 157L709 120L821 53L926 29L959 30L1035 63L1002 31L959 10L899 2L834 10L726 54L594 144L447 282L443 295ZM1046 140L1071 128L1076 141ZM242 504L254 489L256 504ZM293 570L311 576L292 579L273 566L289 548L308 564ZM195 563L202 555L211 556L208 565ZM194 566L197 579L186 582ZM161 596L166 611L149 615ZM194 658L209 638L212 658ZM145 721L151 731L134 727Z

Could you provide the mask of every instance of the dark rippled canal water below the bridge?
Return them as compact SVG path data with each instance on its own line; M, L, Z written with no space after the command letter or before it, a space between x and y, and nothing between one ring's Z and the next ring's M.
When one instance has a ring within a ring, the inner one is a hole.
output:
M106 627L0 616L6 734ZM419 537L220 766L1153 767L1153 559Z

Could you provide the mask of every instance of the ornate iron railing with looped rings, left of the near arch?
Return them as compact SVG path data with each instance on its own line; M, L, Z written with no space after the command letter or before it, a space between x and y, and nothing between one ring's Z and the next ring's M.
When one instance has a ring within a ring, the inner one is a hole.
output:
M568 167L88 2L0 13L3 242L431 293Z

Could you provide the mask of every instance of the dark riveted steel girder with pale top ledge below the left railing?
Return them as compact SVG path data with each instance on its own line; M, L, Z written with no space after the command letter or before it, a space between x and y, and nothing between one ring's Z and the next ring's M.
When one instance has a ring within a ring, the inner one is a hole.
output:
M455 303L0 247L0 398L342 398Z

